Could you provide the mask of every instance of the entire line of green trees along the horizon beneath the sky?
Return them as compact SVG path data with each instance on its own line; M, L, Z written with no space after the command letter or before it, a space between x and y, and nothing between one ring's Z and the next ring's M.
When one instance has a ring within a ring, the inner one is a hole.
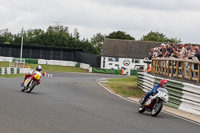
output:
M22 33L12 34L8 29L2 29L0 30L0 43L20 45L22 35L24 45L80 48L86 53L97 55L101 54L104 38L135 40L134 37L124 31L114 31L109 35L97 33L90 40L80 39L80 33L77 29L74 29L74 33L69 33L68 27L56 25L49 26L46 32L42 29L29 29ZM171 43L180 41L180 39L168 38L163 33L152 31L140 40Z

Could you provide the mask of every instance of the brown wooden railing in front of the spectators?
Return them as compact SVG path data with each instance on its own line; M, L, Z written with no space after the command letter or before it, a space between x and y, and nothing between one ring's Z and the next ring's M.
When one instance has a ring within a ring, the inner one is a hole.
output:
M152 73L200 82L200 62L176 58L152 59Z

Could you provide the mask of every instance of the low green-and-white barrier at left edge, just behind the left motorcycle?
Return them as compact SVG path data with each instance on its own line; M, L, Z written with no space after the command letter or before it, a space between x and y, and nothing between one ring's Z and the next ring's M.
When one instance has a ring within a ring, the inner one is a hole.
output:
M27 73L29 68L0 67L0 75Z

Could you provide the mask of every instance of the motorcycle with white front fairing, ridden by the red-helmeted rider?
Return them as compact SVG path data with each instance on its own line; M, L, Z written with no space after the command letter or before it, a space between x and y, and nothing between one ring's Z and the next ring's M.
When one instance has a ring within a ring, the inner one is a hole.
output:
M152 116L157 116L162 110L163 104L169 100L168 91L165 88L158 88L155 95L150 96L144 105L142 100L139 101L138 112L143 113L144 111L151 112Z

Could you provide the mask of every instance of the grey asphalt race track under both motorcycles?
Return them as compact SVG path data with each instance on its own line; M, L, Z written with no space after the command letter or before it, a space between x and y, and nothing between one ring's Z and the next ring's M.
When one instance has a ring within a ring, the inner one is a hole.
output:
M0 78L0 133L198 133L200 126L160 113L139 114L96 79L119 76L53 73L32 93L21 78Z

